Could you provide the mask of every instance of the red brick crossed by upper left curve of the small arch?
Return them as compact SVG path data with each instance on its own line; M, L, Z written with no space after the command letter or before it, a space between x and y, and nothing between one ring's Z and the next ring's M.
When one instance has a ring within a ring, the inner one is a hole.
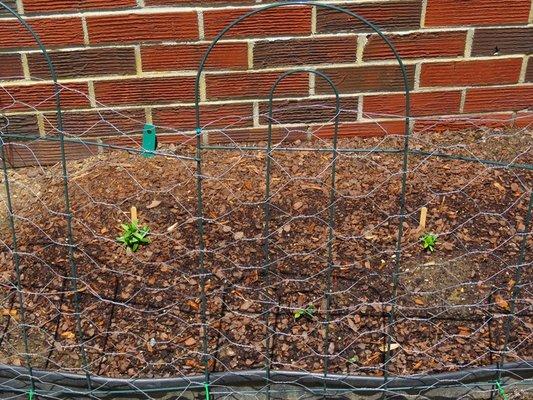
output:
M207 98L221 99L258 99L268 98L278 73L233 73L207 75ZM307 73L295 74L285 78L278 86L275 97L305 96L309 93Z

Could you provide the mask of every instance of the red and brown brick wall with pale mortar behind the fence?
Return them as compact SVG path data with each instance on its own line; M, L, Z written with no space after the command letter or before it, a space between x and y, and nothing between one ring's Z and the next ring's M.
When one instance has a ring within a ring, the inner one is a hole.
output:
M5 0L4 0L5 1ZM398 48L413 90L415 130L533 120L532 0L352 0ZM210 40L260 0L7 0L50 50L65 131L120 143L144 122L163 140L194 130L194 76ZM295 66L325 72L343 95L341 134L401 133L399 68L384 43L345 15L280 7L232 29L202 77L206 140L264 138L267 94ZM0 10L0 108L10 133L53 135L53 88L35 44ZM302 129L328 121L325 82L294 75L277 91L275 118ZM290 108L291 105L297 107ZM316 108L316 106L319 108ZM289 107L287 107L289 106ZM376 123L379 122L379 125ZM309 125L311 124L311 125ZM430 124L430 125L428 125ZM437 126L435 126L437 124ZM233 129L234 128L234 129ZM324 128L323 134L331 133ZM320 132L318 132L320 134Z

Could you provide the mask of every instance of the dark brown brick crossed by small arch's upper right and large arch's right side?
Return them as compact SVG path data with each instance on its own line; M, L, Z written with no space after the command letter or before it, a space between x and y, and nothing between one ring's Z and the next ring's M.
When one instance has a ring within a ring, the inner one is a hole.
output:
M407 66L406 71L409 88L412 88L414 67ZM401 70L396 65L331 68L321 72L331 78L341 94L404 89ZM330 94L331 88L324 80L317 79L316 93Z

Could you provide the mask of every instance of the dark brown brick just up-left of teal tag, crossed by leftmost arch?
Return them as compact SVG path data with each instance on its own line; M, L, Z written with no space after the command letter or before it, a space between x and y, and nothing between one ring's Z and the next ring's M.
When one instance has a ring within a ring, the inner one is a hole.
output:
M63 113L63 133L87 138L140 134L146 123L144 110L83 111ZM56 114L45 114L47 135L56 135Z

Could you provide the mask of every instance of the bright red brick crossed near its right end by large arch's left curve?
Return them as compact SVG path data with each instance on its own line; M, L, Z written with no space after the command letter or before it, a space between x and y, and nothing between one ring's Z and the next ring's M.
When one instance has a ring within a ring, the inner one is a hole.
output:
M197 70L208 45L179 44L141 48L144 71ZM206 69L248 69L247 43L218 43Z

